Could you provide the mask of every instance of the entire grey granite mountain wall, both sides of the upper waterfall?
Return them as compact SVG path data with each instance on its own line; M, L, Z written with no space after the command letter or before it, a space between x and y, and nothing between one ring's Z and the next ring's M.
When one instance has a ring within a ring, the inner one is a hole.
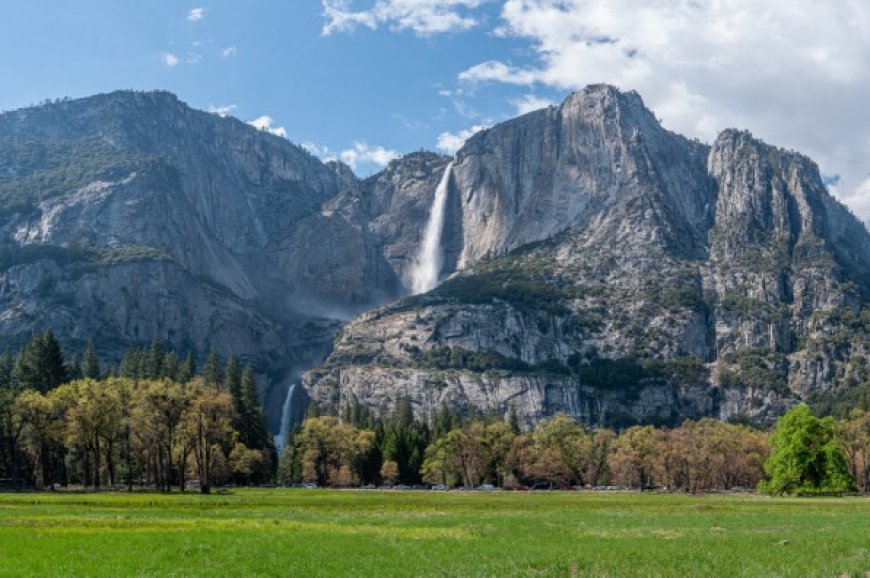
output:
M303 372L294 401L334 411L528 424L767 420L868 388L870 240L816 166L685 139L609 86L362 180L166 92L50 102L0 115L0 217L6 342L235 353L275 430Z

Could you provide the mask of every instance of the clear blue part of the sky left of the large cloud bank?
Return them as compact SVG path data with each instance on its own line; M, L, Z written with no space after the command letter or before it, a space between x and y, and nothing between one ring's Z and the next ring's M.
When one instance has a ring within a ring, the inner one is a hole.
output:
M529 92L481 87L467 102L455 96L457 71L481 59L521 57L515 39L365 27L324 35L323 12L315 0L5 5L0 49L14 56L0 60L0 74L14 80L4 83L0 108L161 88L196 108L235 107L230 114L243 120L269 116L292 141L327 156L357 150L365 158L377 147L438 150L440 134L508 118L516 108L509 99ZM356 168L380 167L358 160Z

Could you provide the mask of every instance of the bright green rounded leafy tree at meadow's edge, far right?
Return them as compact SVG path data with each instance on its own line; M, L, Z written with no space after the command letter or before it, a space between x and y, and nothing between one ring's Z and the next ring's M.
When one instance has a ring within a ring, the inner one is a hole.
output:
M855 489L832 418L819 419L808 406L796 406L777 421L770 443L772 452L764 464L770 479L759 490L781 495Z

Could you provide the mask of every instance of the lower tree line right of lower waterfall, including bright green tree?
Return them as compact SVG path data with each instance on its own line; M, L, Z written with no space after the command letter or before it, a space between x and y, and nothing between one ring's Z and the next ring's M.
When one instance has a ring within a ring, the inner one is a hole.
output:
M819 419L801 405L772 431L717 419L675 428L587 430L558 414L522 432L508 419L442 409L427 421L399 400L386 418L356 405L309 415L278 466L284 484L311 482L562 488L619 486L700 492L734 488L771 494L870 492L870 412Z

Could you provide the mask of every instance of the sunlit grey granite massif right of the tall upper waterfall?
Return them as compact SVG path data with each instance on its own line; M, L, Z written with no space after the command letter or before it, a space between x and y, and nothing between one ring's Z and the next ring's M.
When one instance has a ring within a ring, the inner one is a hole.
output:
M460 272L346 325L318 403L768 421L868 387L870 237L796 153L592 86L472 137L451 194Z

